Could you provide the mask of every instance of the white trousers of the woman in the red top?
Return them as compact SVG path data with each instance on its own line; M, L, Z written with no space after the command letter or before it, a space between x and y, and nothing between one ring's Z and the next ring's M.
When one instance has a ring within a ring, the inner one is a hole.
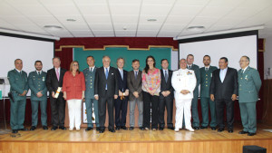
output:
M82 124L82 100L67 100L69 110L69 126L80 129Z

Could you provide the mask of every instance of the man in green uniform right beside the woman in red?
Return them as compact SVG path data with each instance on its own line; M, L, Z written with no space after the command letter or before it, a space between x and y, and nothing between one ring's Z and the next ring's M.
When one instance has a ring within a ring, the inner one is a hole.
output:
M85 84L86 84L86 91L85 91L85 105L87 111L87 121L88 121L88 128L85 129L86 131L92 130L92 104L94 109L95 115L95 125L96 130L99 130L99 114L98 114L98 100L94 99L94 79L95 79L95 72L96 67L94 65L94 58L92 56L87 57L87 63L89 65L88 68L83 70L83 74L85 76Z

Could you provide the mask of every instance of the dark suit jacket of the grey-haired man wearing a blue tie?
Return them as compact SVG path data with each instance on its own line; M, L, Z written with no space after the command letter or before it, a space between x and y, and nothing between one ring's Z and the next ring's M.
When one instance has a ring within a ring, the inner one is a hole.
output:
M94 80L94 95L102 97L113 97L118 95L118 79L117 73L119 73L115 68L110 66L110 71L108 79L104 72L104 67L96 69L95 80ZM107 84L107 95L106 95L106 84Z

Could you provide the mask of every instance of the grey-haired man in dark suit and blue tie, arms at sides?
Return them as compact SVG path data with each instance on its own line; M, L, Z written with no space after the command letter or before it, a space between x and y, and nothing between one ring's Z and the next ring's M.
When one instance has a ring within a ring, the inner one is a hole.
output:
M103 56L103 66L96 70L94 98L98 100L100 133L105 131L106 102L108 103L109 131L115 132L113 121L113 102L118 98L117 70L110 66L111 58Z

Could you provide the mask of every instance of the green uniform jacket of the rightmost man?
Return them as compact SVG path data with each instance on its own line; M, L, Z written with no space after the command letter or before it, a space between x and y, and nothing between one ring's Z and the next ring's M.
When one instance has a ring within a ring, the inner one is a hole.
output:
M256 69L248 66L246 71L242 73L238 71L238 85L239 85L239 102L256 102L257 94L262 85L259 73Z

